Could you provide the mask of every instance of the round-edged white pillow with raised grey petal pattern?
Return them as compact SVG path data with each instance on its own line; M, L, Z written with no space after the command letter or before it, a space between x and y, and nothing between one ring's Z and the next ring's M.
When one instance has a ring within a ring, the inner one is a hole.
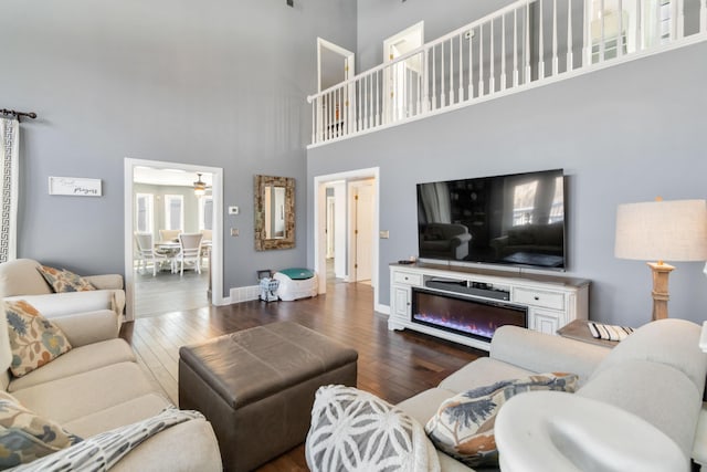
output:
M341 385L317 390L305 454L312 472L440 470L422 424L374 395Z

